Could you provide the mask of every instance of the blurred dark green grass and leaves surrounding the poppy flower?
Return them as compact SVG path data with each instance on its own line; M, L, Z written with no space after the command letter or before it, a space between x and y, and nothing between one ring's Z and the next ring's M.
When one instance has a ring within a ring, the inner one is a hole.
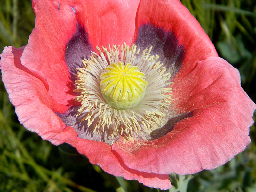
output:
M196 17L215 45L220 57L241 74L241 84L256 102L256 1L181 0ZM0 53L4 46L27 44L34 28L35 14L30 0L0 0ZM253 117L255 121L255 116ZM256 130L252 142L230 162L187 178L188 192L255 192ZM159 192L136 180L115 178L77 154L68 145L54 146L17 120L4 84L0 81L0 191L122 191ZM173 181L176 175L171 175ZM175 181L172 182L175 185ZM184 184L184 185L185 185ZM177 191L172 188L170 191ZM167 190L168 191L168 190Z

